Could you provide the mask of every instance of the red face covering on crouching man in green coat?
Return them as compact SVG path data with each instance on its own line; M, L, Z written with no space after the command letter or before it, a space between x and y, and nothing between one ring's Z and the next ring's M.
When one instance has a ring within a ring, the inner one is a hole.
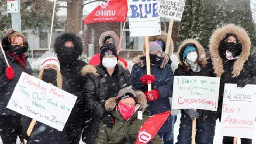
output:
M125 120L128 120L130 117L132 117L135 111L135 106L128 107L120 101L118 103L117 110Z

